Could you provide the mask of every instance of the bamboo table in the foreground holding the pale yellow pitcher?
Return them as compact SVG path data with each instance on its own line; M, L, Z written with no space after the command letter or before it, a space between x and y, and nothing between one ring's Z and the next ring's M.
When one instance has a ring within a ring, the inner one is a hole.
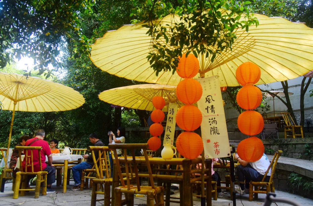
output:
M120 162L123 162L124 157L119 157ZM144 158L136 158L137 163L146 163ZM182 173L182 177L180 178L182 180L182 190L181 190L181 201L180 205L181 206L191 206L193 205L192 203L192 188L191 184L194 181L198 181L198 179L191 179L191 174L194 172L191 170L191 165L193 164L198 164L201 163L201 158L196 158L193 160L187 159L187 158L172 158L170 160L165 160L161 157L152 157L149 158L149 162L151 165L182 165L183 170L180 170ZM206 159L205 164L207 168L210 168L211 170L211 159ZM114 164L114 167L116 165ZM119 186L119 178L116 173L117 169L113 169L113 183L112 183L112 205L114 204L115 201L115 194L114 194L114 188ZM207 183L207 188L211 187L211 171L207 172L208 173L208 180L206 181ZM166 178L166 176L171 176L171 175L153 175L153 178L156 179L170 179ZM177 179L178 176L173 176L173 179ZM212 198L212 193L210 189L207 189L207 204L211 205L211 198Z

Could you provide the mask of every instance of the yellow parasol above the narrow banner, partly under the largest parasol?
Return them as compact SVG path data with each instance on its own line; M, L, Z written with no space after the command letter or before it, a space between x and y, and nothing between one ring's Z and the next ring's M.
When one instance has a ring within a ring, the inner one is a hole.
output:
M118 106L152 111L154 109L152 98L155 96L162 96L165 99L163 111L166 112L170 102L177 104L178 108L184 105L177 100L176 86L158 84L131 85L105 90L100 93L99 99Z

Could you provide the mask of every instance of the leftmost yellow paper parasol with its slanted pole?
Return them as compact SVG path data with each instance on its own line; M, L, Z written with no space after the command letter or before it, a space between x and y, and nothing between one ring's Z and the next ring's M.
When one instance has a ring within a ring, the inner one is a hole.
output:
M0 72L0 101L3 110L11 110L12 121L8 140L10 148L15 111L66 111L85 103L74 89L38 77ZM8 153L7 153L8 154Z

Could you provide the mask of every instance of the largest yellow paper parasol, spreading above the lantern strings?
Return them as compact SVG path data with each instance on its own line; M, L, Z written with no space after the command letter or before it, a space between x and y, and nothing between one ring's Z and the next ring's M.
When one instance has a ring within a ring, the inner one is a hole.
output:
M239 86L235 71L246 61L261 68L261 78L257 84L293 79L313 70L312 28L285 18L270 18L260 14L254 16L259 19L258 27L249 26L249 32L245 29L235 30L237 39L232 50L223 51L213 63L211 56L205 58L199 55L201 77L218 75L221 86ZM158 21L165 27L172 22L181 22L180 17L171 15ZM142 27L143 24L146 23L125 25L105 33L92 45L90 59L101 70L112 75L148 83L177 85L181 78L176 73L172 75L172 71L162 71L156 77L151 69L146 59L152 51L151 37L146 34L148 28ZM167 48L171 49L169 46Z

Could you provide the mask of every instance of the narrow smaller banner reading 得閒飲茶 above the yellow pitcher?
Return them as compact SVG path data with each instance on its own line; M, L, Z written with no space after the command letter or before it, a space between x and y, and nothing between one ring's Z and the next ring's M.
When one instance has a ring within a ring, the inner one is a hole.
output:
M163 145L164 144L173 145L174 143L176 112L177 112L177 104L169 103Z

